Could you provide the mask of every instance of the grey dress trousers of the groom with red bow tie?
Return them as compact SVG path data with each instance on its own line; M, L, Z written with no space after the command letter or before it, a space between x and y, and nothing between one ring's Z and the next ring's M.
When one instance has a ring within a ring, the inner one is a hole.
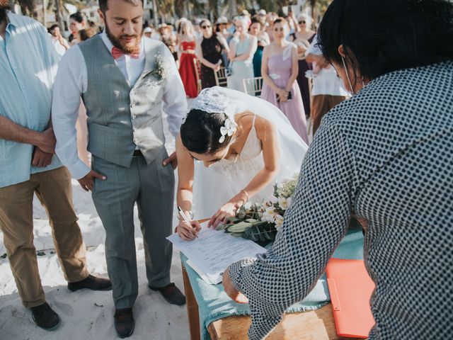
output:
M175 177L163 148L153 163L134 157L130 167L93 156L93 170L107 177L96 179L93 202L105 228L105 257L113 285L116 308L132 307L138 295L134 242L134 203L137 202L150 285L170 283L171 242Z

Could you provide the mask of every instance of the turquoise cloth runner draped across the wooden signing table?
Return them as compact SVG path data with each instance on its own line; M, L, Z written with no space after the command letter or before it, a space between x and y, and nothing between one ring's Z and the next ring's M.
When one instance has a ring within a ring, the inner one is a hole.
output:
M248 305L239 304L232 301L224 292L222 283L209 285L186 263L187 257L180 254L181 261L187 271L193 294L198 303L200 314L201 339L210 340L207 327L211 322L231 317L231 315L250 314ZM340 242L333 257L338 259L363 259L363 234L362 229L350 230L345 238ZM316 283L316 286L304 300L297 302L287 309L287 313L305 312L317 310L326 305L331 300L328 293L326 274L323 274Z

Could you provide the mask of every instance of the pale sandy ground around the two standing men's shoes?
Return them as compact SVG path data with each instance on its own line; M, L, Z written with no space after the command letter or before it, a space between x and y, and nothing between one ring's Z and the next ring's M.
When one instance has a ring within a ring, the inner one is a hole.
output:
M174 149L173 138L167 131L167 149ZM83 191L79 183L72 181L74 207L87 246L88 271L107 277L105 264L105 232L94 208L91 194ZM52 241L49 221L38 198L33 201L35 247L44 254L38 256L38 266L47 302L62 318L55 331L45 331L35 325L28 309L22 306L18 296L8 259L0 259L0 339L1 340L107 340L119 339L113 327L114 305L112 292L67 289ZM134 305L136 320L133 336L129 339L190 339L185 306L170 305L160 293L147 288L144 267L142 233L139 229L135 208L135 244L139 273L139 297ZM174 214L173 222L176 222ZM0 232L0 255L6 253L3 234ZM180 258L173 251L171 279L183 290Z

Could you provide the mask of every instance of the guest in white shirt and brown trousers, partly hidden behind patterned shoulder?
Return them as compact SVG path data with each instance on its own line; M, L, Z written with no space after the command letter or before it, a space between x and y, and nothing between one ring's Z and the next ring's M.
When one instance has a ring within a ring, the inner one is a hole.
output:
M348 92L343 87L343 82L338 78L332 65L324 59L317 42L315 35L314 40L305 52L306 61L314 65L313 72L309 73L313 83L311 89L313 102L310 112L313 135L319 129L323 116L348 96Z

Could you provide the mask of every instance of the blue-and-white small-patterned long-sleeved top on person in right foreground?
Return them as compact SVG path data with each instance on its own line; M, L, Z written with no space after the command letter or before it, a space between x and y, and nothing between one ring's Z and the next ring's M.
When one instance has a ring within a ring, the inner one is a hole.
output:
M451 339L453 62L384 74L325 116L272 249L229 270L251 340L314 287L351 215L376 283L369 339Z

